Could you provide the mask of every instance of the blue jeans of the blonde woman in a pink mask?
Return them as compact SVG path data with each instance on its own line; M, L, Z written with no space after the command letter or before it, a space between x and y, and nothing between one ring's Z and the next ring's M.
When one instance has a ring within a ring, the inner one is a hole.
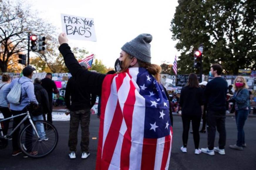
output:
M244 125L245 120L247 119L249 114L248 110L239 109L235 111L235 121L237 126L237 142L236 145L242 147L242 144L245 144L245 132L244 132Z

